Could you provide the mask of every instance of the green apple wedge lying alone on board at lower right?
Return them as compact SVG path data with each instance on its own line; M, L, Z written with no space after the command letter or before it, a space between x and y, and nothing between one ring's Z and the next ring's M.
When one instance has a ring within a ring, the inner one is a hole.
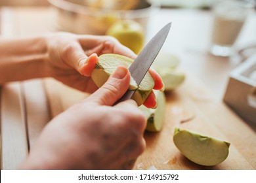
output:
M173 142L186 158L204 166L223 162L228 156L230 146L229 142L179 128L175 128Z

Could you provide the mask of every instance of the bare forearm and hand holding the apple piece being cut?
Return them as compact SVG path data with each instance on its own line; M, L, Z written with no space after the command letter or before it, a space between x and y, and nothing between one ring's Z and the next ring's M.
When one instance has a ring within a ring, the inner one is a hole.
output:
M98 88L91 71L101 54L114 53L136 58L129 48L109 36L49 33L34 37L0 39L0 84L31 78L53 77L82 92L93 93ZM163 82L153 69L155 90ZM154 92L145 101L148 108L156 107Z

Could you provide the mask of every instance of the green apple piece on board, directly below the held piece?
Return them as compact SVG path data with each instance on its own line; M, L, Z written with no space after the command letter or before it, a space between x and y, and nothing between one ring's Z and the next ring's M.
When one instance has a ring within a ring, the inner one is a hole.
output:
M158 106L156 108L147 108L144 105L140 106L147 119L146 131L161 131L165 119L165 95L163 92L154 90Z

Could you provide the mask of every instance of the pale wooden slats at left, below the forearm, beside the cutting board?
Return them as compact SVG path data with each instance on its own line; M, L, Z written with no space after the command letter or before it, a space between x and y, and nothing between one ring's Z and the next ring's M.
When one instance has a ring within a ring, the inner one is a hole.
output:
M17 169L51 120L41 79L0 88L1 169Z

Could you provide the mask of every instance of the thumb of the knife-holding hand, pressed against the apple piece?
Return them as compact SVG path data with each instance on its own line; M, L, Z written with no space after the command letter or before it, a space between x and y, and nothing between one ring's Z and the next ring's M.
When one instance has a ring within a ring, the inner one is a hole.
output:
M130 84L130 73L124 65L119 65L116 71L110 75L107 82L98 88L95 93L87 97L87 101L97 105L112 106L128 90Z

